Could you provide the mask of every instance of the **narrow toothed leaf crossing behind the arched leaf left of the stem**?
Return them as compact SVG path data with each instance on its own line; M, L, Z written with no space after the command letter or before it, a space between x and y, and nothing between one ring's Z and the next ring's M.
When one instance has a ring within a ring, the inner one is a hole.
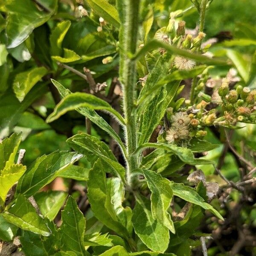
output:
M51 81L55 85L55 87L58 89L58 92L61 94L62 97L65 97L71 94L70 90L66 89L59 82L53 79ZM76 111L86 116L88 119L90 119L90 121L98 125L99 128L102 128L103 131L106 131L119 144L124 156L126 157L126 150L125 150L124 144L122 143L122 140L113 130L113 128L101 116L99 116L94 110L89 108L77 108Z

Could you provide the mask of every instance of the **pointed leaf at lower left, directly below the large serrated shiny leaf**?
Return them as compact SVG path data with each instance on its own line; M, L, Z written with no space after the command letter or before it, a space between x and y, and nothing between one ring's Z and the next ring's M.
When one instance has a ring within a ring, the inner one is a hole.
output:
M15 204L8 212L3 212L2 216L6 221L23 230L28 230L42 236L49 236L51 234L44 219L39 217L35 208L23 195L18 195Z

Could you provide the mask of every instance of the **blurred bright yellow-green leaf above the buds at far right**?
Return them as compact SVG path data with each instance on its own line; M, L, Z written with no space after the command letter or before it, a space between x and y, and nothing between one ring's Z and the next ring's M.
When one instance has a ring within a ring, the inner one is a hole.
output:
M241 53L232 49L227 49L227 57L231 59L236 69L238 70L241 78L244 79L245 82L247 82L249 79L247 61L244 60Z

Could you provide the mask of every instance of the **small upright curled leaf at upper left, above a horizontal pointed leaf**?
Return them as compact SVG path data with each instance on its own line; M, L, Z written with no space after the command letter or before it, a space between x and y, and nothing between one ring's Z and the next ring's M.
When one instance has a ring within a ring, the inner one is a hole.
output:
M62 42L67 34L68 29L70 28L71 22L70 20L64 20L59 22L55 29L52 30L52 34L50 35L50 43L51 43L51 53L52 55L61 55L62 54Z

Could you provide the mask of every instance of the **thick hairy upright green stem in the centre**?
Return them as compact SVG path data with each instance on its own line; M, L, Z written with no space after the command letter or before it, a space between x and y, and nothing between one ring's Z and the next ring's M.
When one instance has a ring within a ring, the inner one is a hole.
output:
M131 172L137 167L137 156L134 151L137 146L136 135L136 110L134 108L134 87L136 84L136 61L129 58L137 48L137 34L139 25L139 4L140 0L122 0L120 17L121 28L119 33L120 41L120 67L119 76L123 87L123 112L126 120L125 141L128 154L126 182L131 186Z

